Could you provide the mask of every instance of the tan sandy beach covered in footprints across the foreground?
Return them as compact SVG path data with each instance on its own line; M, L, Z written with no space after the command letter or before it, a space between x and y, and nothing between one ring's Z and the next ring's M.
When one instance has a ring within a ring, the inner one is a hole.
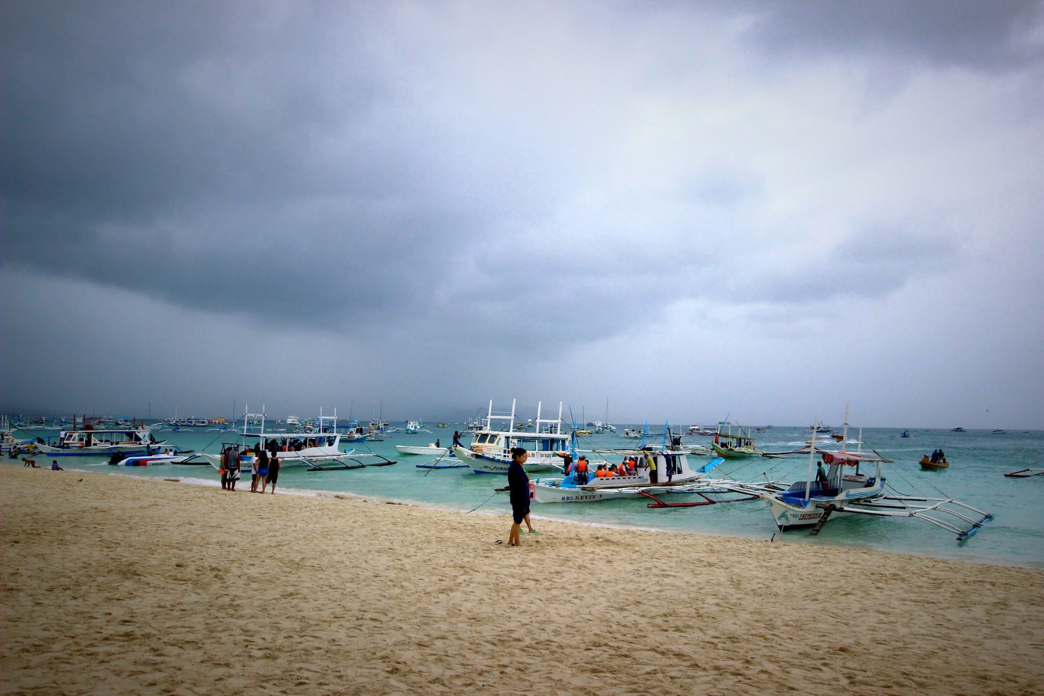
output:
M1044 572L0 466L3 693L1044 693ZM248 488L248 482L244 482Z

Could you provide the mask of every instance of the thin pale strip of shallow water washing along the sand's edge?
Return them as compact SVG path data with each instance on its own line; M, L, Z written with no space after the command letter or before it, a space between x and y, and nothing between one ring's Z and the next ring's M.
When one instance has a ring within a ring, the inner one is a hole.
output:
M212 481L211 479L204 479L204 478L196 478L196 477L174 477L174 476L171 476L171 477L166 477L166 478L159 478L159 477L135 476L133 474L124 474L122 472L106 472L106 473L102 474L101 472L92 472L92 471L87 471L87 470L82 470L82 469L70 469L68 471L74 471L74 472L78 472L78 473L82 473L82 474L88 474L88 475L94 475L94 476L114 476L114 477L123 477L123 478L129 478L129 479L135 479L135 480L143 480L143 481L164 481L164 480L167 480L167 479L179 478L179 483L184 483L186 485L196 485L196 486L200 486L200 487L214 487L214 488L218 488L218 489L220 489L220 487L221 487L220 481L218 481L218 480L213 480ZM191 480L187 480L187 479L191 479ZM248 493L248 489L246 489L246 491ZM243 493L243 490L239 490L237 493ZM326 489L323 489L323 488L295 488L295 487L292 487L292 486L281 486L279 495L301 496L301 497L306 497L306 498L307 497L314 497L314 498L337 498L337 497L343 498L343 497L349 497L349 498L353 498L353 499L356 499L356 498L357 499L373 499L374 501L378 501L378 502L381 502L381 503L392 503L392 504L396 504L396 505L406 505L406 506L418 507L418 508L422 508L422 509L438 510L438 511L443 511L443 512L456 512L456 513L460 513L460 514L477 513L477 514L482 514L482 515L494 515L494 517L495 515L506 514L506 512L503 511L503 510L478 510L478 509L476 509L476 510L473 510L473 511L469 511L469 510L465 510L464 508L447 507L447 506L442 506L442 505L437 505L437 504L433 504L433 503L428 503L428 502L424 502L424 501L413 501L413 500L398 499L398 498L383 498L383 497L380 497L380 496L364 496L364 495L361 495L361 494L355 494L355 493L351 493L351 491L326 490ZM1025 568L1027 570L1040 570L1040 571L1044 571L1044 561L1038 561L1038 560L1018 561L1018 560L1014 560L1014 559L1011 559L1011 558L996 558L996 557L991 557L991 556L986 556L986 555L978 556L978 557L969 557L967 554L965 554L965 555L962 555L962 554L947 554L945 552L940 552L940 553L919 553L919 552L916 552L916 551L904 552L904 551L899 551L899 550L881 550L881 549L873 549L873 548L862 547L862 546L858 546L858 545L836 544L836 543L829 543L829 542L823 542L823 543L821 543L818 545L811 545L811 544L804 544L802 542L786 539L786 538L782 537L782 534L783 534L782 532L777 532L777 534L773 535L773 536L780 536L779 539L772 541L770 538L764 538L764 537L761 537L761 536L754 536L754 535L745 535L744 536L742 534L725 534L725 533L714 533L714 532L710 532L710 531L687 531L687 530L682 530L682 529L667 529L667 528L661 528L661 527L644 527L644 526L636 526L636 525L627 525L627 524L613 524L613 523L608 523L608 522L582 522L582 521L578 521L578 520L570 520L568 518L546 517L546 515L543 515L543 514L536 514L536 513L533 513L530 519L532 519L532 520L547 521L547 522L554 522L554 523L561 523L561 524L565 524L565 525L577 525L577 526L580 526L580 527L593 527L593 528L603 528L603 529L621 529L621 530L627 530L627 531L642 531L642 532L654 532L654 533L663 533L663 534L711 536L711 537L715 537L715 538L736 538L736 539L748 539L748 541L751 541L751 542L769 542L769 543L776 543L776 541L778 541L779 543L782 543L782 544L792 544L792 545L798 545L798 546L813 546L813 547L823 548L823 549L849 549L849 550L856 550L856 551L867 551L869 553L881 553L881 554L894 554L894 555L898 555L898 556L908 556L908 557L914 557L914 558L934 558L934 559L939 559L939 560L952 560L952 561L956 561L956 562L974 563L974 565L977 565L977 566L997 566L997 567L1001 567L1001 568ZM915 522L915 521L910 521L909 524L919 524L919 523ZM934 532L934 530L931 530L931 531ZM800 533L800 532L798 532L798 533ZM942 532L935 532L935 533L942 533ZM976 538L976 541L978 541L977 537L975 537L975 538Z

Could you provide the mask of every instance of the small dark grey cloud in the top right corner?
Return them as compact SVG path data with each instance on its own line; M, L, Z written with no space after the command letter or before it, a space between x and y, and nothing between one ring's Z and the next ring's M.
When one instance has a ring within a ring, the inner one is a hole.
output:
M1044 56L1034 37L1039 0L781 0L760 5L751 40L763 50L874 55L982 70L1021 68Z

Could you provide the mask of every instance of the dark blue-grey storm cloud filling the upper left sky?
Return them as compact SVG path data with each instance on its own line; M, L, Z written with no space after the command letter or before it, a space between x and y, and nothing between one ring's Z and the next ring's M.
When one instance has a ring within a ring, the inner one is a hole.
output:
M419 297L482 211L373 74L375 22L305 4L7 5L7 261L291 320Z

